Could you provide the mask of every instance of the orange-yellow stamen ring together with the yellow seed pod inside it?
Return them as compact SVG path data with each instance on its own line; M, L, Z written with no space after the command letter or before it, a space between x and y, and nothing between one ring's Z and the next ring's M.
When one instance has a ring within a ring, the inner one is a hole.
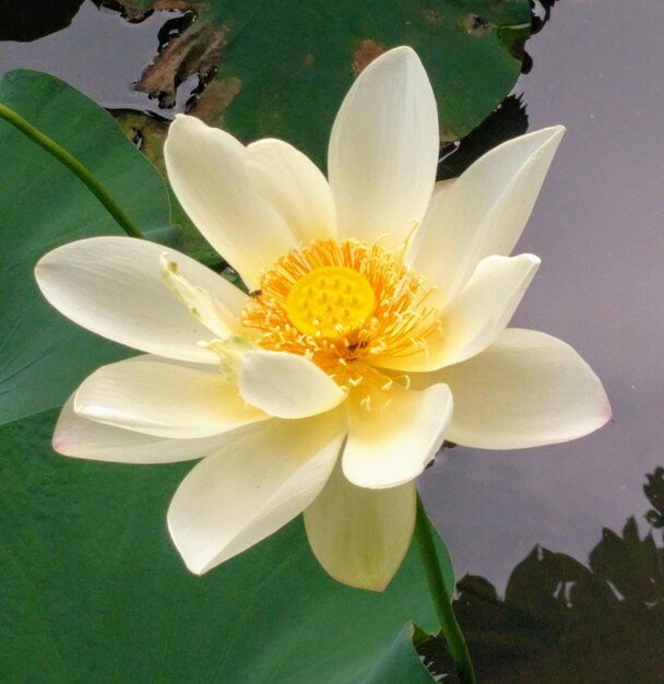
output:
M317 240L263 272L241 321L263 349L306 356L368 397L392 384L382 368L426 352L440 330L430 293L424 278L376 245Z

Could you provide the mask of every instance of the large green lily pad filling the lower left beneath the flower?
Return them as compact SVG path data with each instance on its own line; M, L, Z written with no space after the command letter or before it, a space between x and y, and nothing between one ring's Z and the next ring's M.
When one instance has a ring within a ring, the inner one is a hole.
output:
M435 626L415 547L383 593L349 589L319 567L298 519L192 576L165 526L191 463L62 458L55 418L0 428L0 681L429 681L403 627ZM442 543L439 553L451 589Z

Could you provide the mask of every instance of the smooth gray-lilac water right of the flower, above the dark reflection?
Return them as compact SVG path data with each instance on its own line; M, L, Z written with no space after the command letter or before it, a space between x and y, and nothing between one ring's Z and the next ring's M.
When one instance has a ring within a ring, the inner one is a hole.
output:
M428 473L456 567L499 587L535 543L585 559L603 526L642 517L664 465L662 27L659 2L567 0L527 44L530 129L568 132L517 247L543 263L511 325L572 344L614 421L554 447L456 448Z

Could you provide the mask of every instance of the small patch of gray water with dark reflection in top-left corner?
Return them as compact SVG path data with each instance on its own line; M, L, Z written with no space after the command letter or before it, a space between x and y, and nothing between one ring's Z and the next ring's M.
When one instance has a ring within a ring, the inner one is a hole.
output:
M137 109L169 119L185 110L199 85L197 78L177 83L177 98L167 103L171 108L133 87L190 12L147 12L142 21L132 22L100 0L35 0L27 7L23 0L12 0L9 4L8 9L0 5L0 75L12 69L46 71L109 109ZM35 28L28 28L31 22ZM40 35L46 37L21 42Z

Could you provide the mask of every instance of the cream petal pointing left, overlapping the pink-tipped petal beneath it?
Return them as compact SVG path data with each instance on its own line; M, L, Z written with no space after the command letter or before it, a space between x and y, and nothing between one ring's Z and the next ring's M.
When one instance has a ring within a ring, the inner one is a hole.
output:
M81 385L74 411L158 437L218 435L268 416L220 374L139 357L103 366Z

